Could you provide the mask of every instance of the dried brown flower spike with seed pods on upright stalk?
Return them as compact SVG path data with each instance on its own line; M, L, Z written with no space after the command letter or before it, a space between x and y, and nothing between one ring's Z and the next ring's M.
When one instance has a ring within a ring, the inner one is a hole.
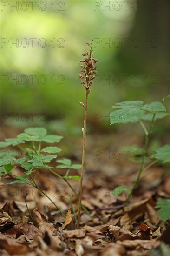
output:
M93 41L93 40L92 40ZM82 54L83 56L87 57L85 60L80 60L80 63L86 65L86 67L80 64L80 67L83 68L80 70L82 74L79 74L79 78L83 79L84 81L81 84L85 87L85 104L83 102L79 102L79 104L85 109L84 115L84 126L82 128L83 132L83 154L82 154L82 168L81 168L81 178L80 178L80 189L79 189L79 203L78 203L78 224L77 228L79 229L80 225L80 214L81 214L81 201L82 201L82 191L83 191L83 174L84 174L84 165L85 165L85 144L86 144L86 122L87 122L87 101L88 95L90 94L90 86L92 86L92 80L95 78L94 74L96 74L96 67L95 64L97 60L92 55L92 41L90 43L86 43L90 50Z

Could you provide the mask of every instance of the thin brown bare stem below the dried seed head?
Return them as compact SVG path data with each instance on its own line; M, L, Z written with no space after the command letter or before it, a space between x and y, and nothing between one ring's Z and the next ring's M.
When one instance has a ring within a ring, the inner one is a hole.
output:
M81 177L80 177L80 192L79 192L79 203L78 203L78 225L80 227L80 214L81 214L81 201L82 201L82 192L83 192L83 175L84 175L84 166L85 166L85 144L86 144L86 122L87 122L87 101L88 101L88 92L86 90L85 97L85 118L84 118L84 127L83 127L83 155L82 155L82 167L81 167Z

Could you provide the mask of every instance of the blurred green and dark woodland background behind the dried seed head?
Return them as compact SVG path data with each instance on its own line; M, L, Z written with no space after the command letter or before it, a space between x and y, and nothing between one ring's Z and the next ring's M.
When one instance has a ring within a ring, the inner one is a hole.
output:
M167 0L1 1L1 123L81 135L85 88L79 60L94 40L97 74L88 128L109 131L119 101L169 94ZM166 101L165 105L169 108ZM96 119L96 113L99 113ZM118 126L115 126L118 127ZM166 133L167 118L159 121Z

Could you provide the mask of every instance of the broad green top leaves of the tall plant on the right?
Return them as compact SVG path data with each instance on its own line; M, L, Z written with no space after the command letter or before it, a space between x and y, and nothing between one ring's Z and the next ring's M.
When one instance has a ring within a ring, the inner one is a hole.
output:
M166 108L159 101L146 105L143 105L143 101L123 101L116 103L112 108L119 109L110 113L111 124L134 123L139 120L151 121L154 114L155 121L168 115L167 113L163 113L166 111Z

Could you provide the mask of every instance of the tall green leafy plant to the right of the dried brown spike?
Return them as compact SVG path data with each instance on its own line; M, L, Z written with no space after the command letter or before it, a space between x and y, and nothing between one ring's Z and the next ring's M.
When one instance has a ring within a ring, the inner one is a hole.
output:
M169 98L170 95L168 95L163 101L165 101L167 98ZM141 166L139 169L139 172L137 174L137 178L134 181L134 184L132 186L132 189L130 190L130 193L127 197L126 202L129 202L131 195L133 194L133 191L137 185L137 182L140 179L141 174L148 168L150 168L153 164L155 164L157 161L162 161L163 163L170 162L170 146L164 145L162 148L158 148L156 150L156 154L150 155L150 159L156 158L153 162L150 162L146 167L144 167L146 152L148 148L148 142L149 142L149 136L151 133L151 129L153 126L154 121L157 119L162 119L163 117L169 115L166 112L166 108L163 105L162 102L152 102L150 104L144 105L142 101L123 101L120 103L116 103L112 108L118 108L118 110L115 110L110 113L110 122L111 124L115 123L134 123L139 121L142 128L144 129L145 133L145 143L144 143L144 149L142 153L142 159L141 159ZM136 117L134 118L134 116ZM118 119L117 119L118 118ZM149 127L147 128L144 124L144 121L149 122ZM120 189L123 187L117 187L113 190L113 195L118 195L118 191L120 193L123 191L123 189ZM119 193L119 194L120 194Z

